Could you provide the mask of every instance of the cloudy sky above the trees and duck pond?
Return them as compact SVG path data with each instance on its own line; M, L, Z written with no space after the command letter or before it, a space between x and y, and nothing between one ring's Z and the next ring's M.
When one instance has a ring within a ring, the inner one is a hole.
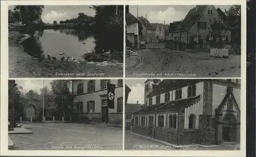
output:
M13 8L14 6L9 6L9 9ZM56 20L59 23L60 20L77 17L80 12L90 16L95 15L95 11L89 6L45 6L42 12L42 21L52 24Z

